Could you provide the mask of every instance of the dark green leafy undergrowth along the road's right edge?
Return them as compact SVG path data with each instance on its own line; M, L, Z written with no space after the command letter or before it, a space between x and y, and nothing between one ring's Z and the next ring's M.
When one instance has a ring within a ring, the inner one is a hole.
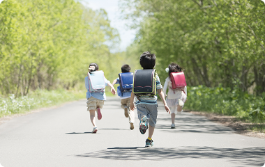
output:
M208 111L226 116L236 116L245 122L264 123L265 93L262 96L249 95L239 89L188 87L188 101L185 109Z

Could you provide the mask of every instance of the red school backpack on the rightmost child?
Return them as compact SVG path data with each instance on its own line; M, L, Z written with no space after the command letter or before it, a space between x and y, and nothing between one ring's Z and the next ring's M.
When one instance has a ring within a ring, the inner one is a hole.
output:
M172 89L184 88L187 86L184 72L171 72L169 74L170 80L172 82Z

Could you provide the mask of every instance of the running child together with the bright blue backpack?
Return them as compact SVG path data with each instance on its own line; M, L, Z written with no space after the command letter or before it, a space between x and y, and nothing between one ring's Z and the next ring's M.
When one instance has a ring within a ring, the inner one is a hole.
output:
M124 110L124 116L129 118L130 129L134 129L135 112L130 110L130 94L132 93L133 73L130 72L130 65L121 66L121 73L117 79L114 79L112 85L119 84L117 93L121 98L121 108Z

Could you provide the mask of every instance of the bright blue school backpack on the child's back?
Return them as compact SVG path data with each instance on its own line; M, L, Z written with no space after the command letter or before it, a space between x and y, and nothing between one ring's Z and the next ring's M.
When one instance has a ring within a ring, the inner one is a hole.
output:
M119 74L121 95L132 91L133 73L124 72Z

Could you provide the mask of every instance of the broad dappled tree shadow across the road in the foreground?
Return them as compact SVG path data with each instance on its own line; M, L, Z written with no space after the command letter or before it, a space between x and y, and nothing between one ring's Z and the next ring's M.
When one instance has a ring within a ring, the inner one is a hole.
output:
M151 160L167 159L227 159L236 164L265 166L265 148L108 148L98 152L76 154L75 157L100 158L110 160Z

